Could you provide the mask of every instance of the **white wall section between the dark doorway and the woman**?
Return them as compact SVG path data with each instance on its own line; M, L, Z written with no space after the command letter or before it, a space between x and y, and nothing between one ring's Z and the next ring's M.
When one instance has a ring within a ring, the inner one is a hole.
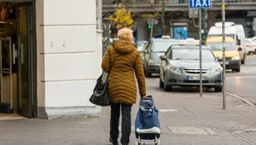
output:
M76 112L73 107L92 107L99 113L89 102L102 61L96 43L96 1L41 0L36 5L38 117L44 116L42 110L61 115L58 107L70 109L64 115L73 115L67 114Z

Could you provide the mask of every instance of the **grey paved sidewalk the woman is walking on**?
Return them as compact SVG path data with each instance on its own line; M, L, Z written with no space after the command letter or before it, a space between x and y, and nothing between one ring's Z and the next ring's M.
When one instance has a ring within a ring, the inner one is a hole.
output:
M163 145L256 144L256 107L221 93L165 92L148 84L148 94L160 110ZM138 104L132 107L132 120ZM134 121L132 121L133 124ZM18 119L0 122L0 145L109 145L109 107L95 119ZM253 131L253 129L255 131ZM131 132L131 145L136 138Z

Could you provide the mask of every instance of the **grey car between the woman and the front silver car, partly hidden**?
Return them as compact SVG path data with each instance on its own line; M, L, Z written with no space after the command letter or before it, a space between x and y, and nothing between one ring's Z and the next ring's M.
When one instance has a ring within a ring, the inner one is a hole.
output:
M146 77L151 77L152 73L159 73L159 56L165 54L172 44L178 44L178 40L164 36L153 38L144 46L141 56Z

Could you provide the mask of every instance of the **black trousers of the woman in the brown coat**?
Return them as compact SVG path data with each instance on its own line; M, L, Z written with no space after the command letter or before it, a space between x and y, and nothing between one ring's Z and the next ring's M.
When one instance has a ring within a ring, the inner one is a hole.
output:
M119 138L119 117L122 113L122 137L121 143L128 144L131 135L131 105L113 103L111 105L110 137L114 140Z

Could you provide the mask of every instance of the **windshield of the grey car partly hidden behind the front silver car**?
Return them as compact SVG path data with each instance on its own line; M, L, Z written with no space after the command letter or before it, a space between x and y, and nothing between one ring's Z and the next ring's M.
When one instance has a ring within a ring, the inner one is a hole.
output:
M166 52L166 50L172 45L178 44L176 41L159 41L152 44L151 50L153 52Z

